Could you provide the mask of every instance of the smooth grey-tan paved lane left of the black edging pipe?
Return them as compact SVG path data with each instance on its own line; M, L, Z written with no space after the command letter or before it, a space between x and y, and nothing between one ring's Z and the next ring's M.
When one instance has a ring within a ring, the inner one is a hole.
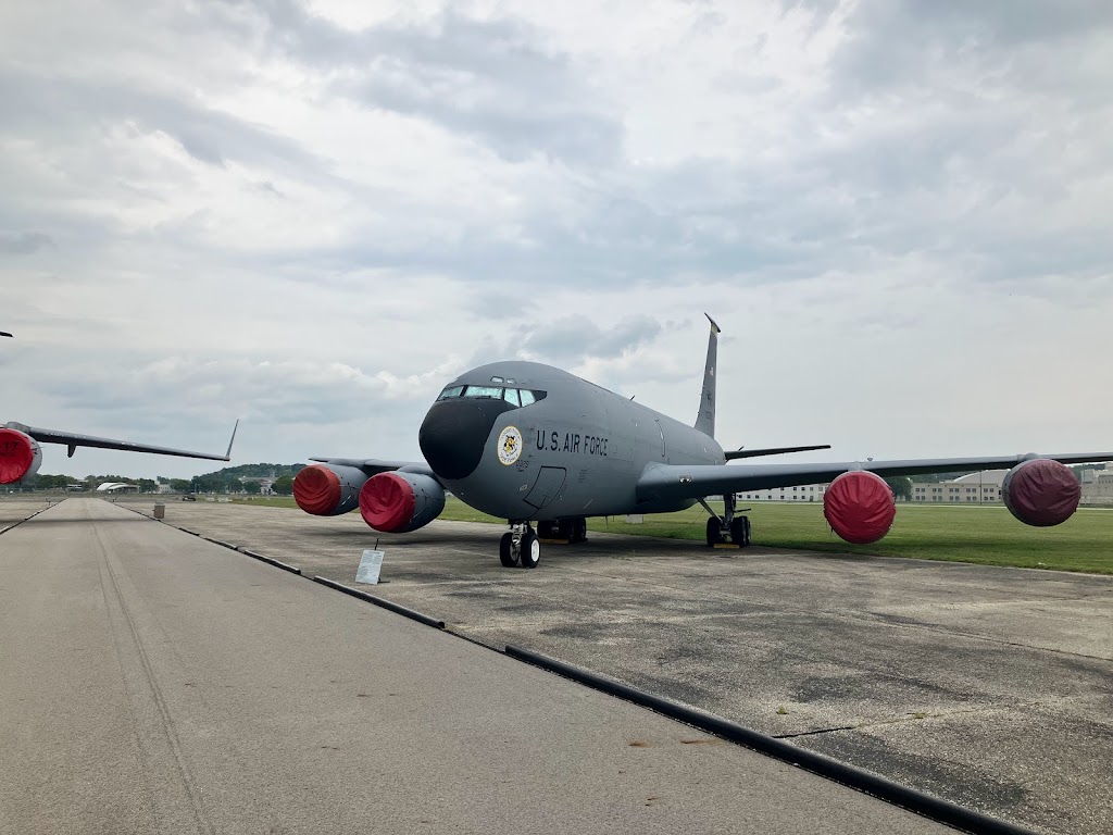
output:
M0 627L6 834L948 832L99 500Z

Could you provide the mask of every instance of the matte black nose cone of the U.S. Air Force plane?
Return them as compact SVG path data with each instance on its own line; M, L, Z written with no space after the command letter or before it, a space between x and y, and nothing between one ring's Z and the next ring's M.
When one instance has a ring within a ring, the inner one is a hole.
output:
M441 479L455 481L471 475L483 458L483 448L495 420L513 409L504 400L459 397L433 404L421 424L417 443Z

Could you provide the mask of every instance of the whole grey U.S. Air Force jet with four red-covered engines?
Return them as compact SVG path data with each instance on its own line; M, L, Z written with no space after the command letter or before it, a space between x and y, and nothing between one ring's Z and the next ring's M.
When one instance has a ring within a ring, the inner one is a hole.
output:
M703 390L692 426L560 369L499 362L449 383L418 432L425 461L314 458L294 480L308 513L359 508L368 525L413 531L444 509L445 491L510 530L502 564L535 568L542 540L580 542L587 518L663 513L703 505L707 543L742 547L749 520L736 493L830 482L824 513L849 542L884 537L896 504L883 477L1011 466L1005 504L1026 524L1051 525L1077 508L1080 488L1065 464L1113 461L1113 453L997 458L728 464L738 459L829 449L827 445L723 451L715 440L719 326L708 316ZM708 497L721 497L717 512ZM533 524L536 524L536 529Z

